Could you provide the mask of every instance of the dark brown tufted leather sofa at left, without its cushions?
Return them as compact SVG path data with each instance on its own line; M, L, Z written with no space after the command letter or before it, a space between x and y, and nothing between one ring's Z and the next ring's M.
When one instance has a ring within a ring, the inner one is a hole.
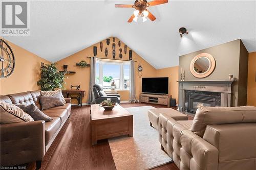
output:
M0 96L0 100L12 104L35 104L41 109L41 92L28 91ZM51 122L1 124L1 166L13 166L36 161L37 168L55 137L71 114L71 99L65 99L64 106L42 110L52 117Z

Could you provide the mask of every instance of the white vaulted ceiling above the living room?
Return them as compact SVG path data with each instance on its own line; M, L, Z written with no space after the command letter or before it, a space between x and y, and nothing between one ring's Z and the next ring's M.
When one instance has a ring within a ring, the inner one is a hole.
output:
M127 23L134 1L32 1L31 35L7 40L56 62L115 36L155 68L176 66L179 56L242 39L256 51L255 1L169 1L148 8L157 19ZM180 27L189 34L180 38Z

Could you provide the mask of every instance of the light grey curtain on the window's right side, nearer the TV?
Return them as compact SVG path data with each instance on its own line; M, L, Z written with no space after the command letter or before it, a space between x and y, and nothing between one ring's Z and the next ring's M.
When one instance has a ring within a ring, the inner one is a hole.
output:
M135 76L134 76L134 61L130 61L130 95L129 102L137 103L136 93L135 93Z

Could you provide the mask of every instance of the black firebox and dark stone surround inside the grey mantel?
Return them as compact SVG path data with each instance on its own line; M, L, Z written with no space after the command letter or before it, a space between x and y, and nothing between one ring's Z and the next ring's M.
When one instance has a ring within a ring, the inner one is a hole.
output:
M221 93L208 91L186 90L185 109L187 112L196 113L200 107L220 106Z

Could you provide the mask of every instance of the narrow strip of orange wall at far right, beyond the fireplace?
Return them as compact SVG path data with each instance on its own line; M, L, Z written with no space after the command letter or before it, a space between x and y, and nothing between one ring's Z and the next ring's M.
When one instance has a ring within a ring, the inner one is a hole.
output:
M256 52L249 53L247 105L256 106Z

